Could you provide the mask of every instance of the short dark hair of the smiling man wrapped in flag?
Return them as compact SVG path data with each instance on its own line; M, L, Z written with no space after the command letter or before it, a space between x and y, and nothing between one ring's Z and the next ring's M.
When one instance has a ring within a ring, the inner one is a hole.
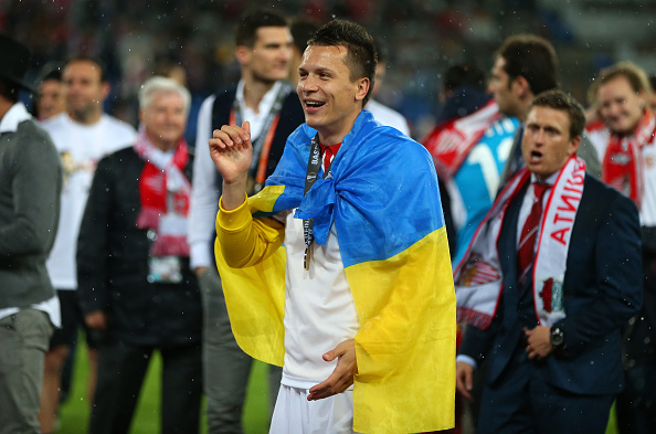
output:
M369 92L362 100L367 105L373 91L375 65L378 64L373 38L360 24L347 20L332 20L324 24L307 42L308 45L345 46L347 49L346 65L350 70L349 78L369 78Z

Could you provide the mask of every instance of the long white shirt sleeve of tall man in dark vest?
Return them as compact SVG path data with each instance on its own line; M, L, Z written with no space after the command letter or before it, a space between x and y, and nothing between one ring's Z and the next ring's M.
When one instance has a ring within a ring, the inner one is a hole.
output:
M189 211L189 234L191 269L212 265L211 245L219 209L216 169L210 157L208 141L212 135L212 107L215 96L209 96L201 105L195 135L191 207Z

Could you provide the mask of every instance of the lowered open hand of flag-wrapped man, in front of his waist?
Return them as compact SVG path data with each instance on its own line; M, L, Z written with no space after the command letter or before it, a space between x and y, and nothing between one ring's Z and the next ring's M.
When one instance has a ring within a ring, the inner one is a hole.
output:
M308 401L322 400L324 398L341 393L353 384L353 375L358 373L356 342L353 339L345 340L324 354L324 360L327 362L335 359L338 359L337 367L335 367L335 370L326 381L309 390Z

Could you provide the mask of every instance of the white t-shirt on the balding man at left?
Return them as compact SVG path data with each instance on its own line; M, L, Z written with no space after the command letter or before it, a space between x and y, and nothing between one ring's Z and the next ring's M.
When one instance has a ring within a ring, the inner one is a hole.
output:
M57 235L46 262L52 284L57 289L77 288L77 234L98 161L131 146L136 131L128 124L103 115L93 125L80 124L61 114L42 124L57 148L64 169Z

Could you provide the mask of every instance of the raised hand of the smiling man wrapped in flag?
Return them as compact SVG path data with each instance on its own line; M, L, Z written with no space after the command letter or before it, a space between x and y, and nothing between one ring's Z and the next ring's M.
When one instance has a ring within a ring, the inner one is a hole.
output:
M210 156L223 181L229 184L242 178L245 181L253 160L251 124L245 121L241 127L224 125L214 130L209 144Z

